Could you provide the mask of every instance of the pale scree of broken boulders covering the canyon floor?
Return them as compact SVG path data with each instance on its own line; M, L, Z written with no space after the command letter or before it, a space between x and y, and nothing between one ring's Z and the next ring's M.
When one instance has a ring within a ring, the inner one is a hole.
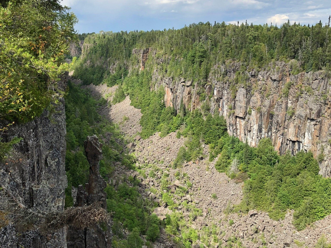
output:
M116 86L87 86L95 97L105 97L112 101ZM119 108L120 106L120 108ZM129 111L128 111L129 110ZM170 133L161 138L159 133L148 139L142 140L136 133L132 132L132 125L135 124L135 131L141 130L137 116L139 109L130 106L130 99L127 97L121 103L104 108L102 112L110 120L118 123L120 130L131 141L128 149L137 158L136 168L140 173L127 170L122 167L116 169L117 177L112 183L116 186L122 183L119 175L127 177L135 175L141 181L141 193L144 198L158 202L160 205L154 213L163 220L166 215L179 212L187 225L199 232L199 239L192 244L192 247L201 247L202 241L208 239L210 247L226 247L226 242L236 240L241 242L243 247L314 247L317 240L324 236L331 241L331 216L318 220L305 230L297 231L292 224L293 211L288 211L284 219L273 220L267 213L251 210L248 214L231 213L231 209L239 204L243 198L242 182L236 182L228 178L225 173L219 173L214 168L215 160L209 162L202 158L196 161L187 161L182 168L173 169L171 163L175 160L179 148L183 146L184 139L176 138L175 133ZM129 114L129 115L128 115ZM129 117L128 117L129 116ZM125 121L123 117L125 118ZM138 123L138 124L137 124ZM208 147L204 147L204 153L208 155ZM163 190L162 180L166 178L168 188L173 193L175 209L162 201ZM176 195L176 189L187 187L187 180L192 183L185 195ZM191 208L187 207L187 204ZM192 220L192 207L201 210L201 214ZM213 240L211 229L216 235ZM216 241L217 240L217 241ZM154 247L171 247L171 242L165 236L161 236Z

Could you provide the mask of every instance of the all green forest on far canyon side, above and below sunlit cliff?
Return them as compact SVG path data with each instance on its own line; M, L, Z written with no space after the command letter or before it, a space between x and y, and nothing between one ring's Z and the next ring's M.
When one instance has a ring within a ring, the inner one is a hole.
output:
M210 160L217 157L216 168L238 182L245 181L245 198L237 211L260 209L278 219L294 209L294 225L303 229L331 213L331 181L318 175L312 154L279 156L270 140L261 140L257 148L250 148L228 136L224 119L212 116L208 104L201 106L201 112L191 113L184 106L179 111L166 108L163 89L151 91L155 89L152 75L157 72L161 78L192 80L197 83L194 85L201 100L208 101L202 87L212 68L229 61L241 64L233 88L246 85L247 70L259 71L279 60L292 60L292 74L320 69L329 73L329 32L330 23L321 22L314 26L287 22L281 27L199 23L180 30L101 32L85 38L86 50L74 75L86 84L119 84L114 103L129 95L132 105L141 109L142 137L157 131L164 136L175 130L179 130L178 136L187 137L173 167L202 156L201 144L208 144ZM147 57L145 69L138 71L135 68L142 54L131 51L146 47L153 48L153 55ZM129 74L126 69L130 69Z

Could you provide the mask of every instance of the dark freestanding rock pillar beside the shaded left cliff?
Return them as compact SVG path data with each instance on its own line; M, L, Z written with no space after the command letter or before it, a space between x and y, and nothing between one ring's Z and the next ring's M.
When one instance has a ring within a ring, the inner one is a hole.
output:
M90 175L85 189L79 185L76 197L76 207L90 206L98 203L98 206L107 211L106 182L99 172L99 161L102 159L102 144L96 135L88 136L84 142L86 158L90 164ZM93 228L77 230L69 226L67 235L68 248L110 248L112 243L111 222L102 228L96 225Z

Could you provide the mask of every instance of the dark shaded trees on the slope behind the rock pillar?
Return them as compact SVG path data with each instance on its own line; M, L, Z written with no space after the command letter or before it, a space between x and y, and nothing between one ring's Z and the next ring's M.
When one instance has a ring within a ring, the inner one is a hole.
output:
M121 161L120 152L122 148L115 141L120 139L119 132L111 125L102 121L97 109L105 102L97 101L87 91L83 91L68 82L66 100L66 127L67 127L67 152L66 152L66 174L68 177L68 188L66 189L65 206L72 205L71 186L77 187L87 183L89 174L89 163L84 155L83 142L87 136L113 133L109 144L102 147L103 159L100 161L100 174L107 180L114 170L112 164ZM98 123L98 124L97 124Z

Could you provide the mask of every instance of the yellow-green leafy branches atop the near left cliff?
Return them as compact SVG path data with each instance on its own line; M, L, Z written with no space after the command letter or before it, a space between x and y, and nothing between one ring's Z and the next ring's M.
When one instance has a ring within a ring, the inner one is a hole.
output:
M56 82L68 69L64 56L76 37L77 19L68 10L58 0L1 1L0 120L11 123L0 132L57 101ZM7 145L0 143L0 150Z

